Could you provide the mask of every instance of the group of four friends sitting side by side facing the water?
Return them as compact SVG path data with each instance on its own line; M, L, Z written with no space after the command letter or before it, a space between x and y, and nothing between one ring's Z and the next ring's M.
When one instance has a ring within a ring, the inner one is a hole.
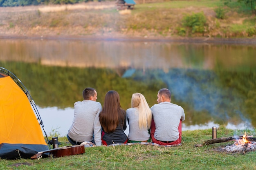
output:
M171 91L162 88L151 108L141 93L132 94L131 108L124 110L117 91L108 91L103 107L96 102L94 88L83 90L83 101L74 103L74 119L67 133L72 145L88 141L101 145L128 142L153 142L159 145L181 144L184 109L171 103ZM129 124L125 134L126 120Z

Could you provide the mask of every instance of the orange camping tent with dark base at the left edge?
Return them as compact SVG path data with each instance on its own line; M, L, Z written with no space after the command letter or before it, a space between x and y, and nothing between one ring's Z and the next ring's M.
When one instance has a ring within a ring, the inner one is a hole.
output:
M30 158L48 149L27 95L0 73L0 157Z

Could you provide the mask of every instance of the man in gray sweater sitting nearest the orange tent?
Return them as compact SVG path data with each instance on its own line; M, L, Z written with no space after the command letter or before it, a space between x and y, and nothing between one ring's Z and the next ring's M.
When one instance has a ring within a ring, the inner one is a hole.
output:
M80 145L84 141L101 146L101 124L99 113L102 106L97 100L94 88L83 90L83 101L74 103L74 119L67 132L67 139L72 145Z

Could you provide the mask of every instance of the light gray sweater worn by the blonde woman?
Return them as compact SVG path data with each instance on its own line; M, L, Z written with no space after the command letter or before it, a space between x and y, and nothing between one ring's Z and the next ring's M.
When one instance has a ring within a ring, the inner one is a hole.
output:
M131 141L146 141L150 135L148 128L139 128L139 109L128 108L126 110L126 116L129 124L128 139Z

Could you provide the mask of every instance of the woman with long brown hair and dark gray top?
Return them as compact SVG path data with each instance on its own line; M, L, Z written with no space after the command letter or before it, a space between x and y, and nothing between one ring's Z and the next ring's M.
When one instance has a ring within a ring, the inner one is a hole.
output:
M127 143L126 111L121 108L120 97L116 91L108 91L104 105L99 114L99 121L103 128L102 144L111 145Z

